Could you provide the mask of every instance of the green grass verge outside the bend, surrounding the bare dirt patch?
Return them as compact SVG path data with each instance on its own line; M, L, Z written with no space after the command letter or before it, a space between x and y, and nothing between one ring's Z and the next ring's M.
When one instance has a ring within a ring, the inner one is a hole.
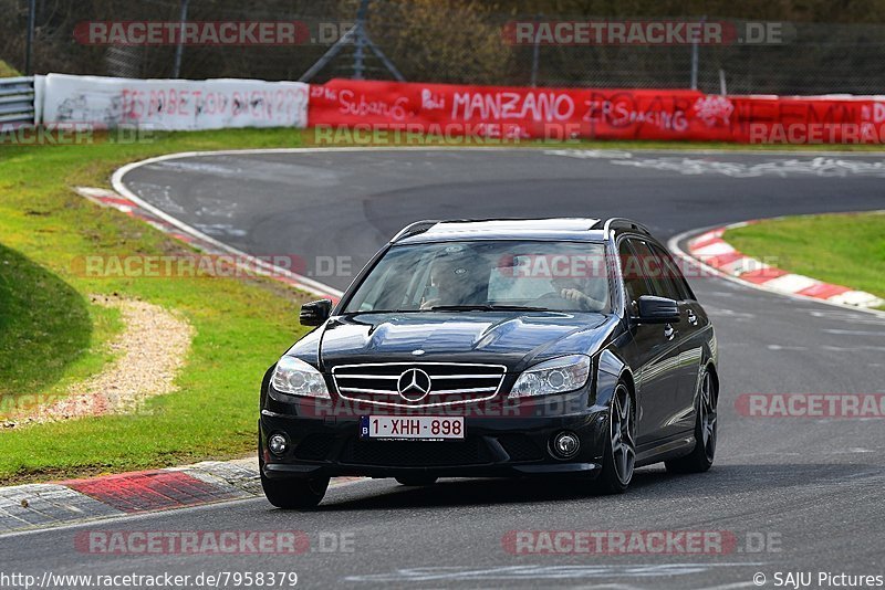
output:
M122 326L115 310L90 303L94 294L116 293L162 305L181 313L196 328L177 380L179 391L150 400L145 411L0 431L0 485L253 451L261 376L303 334L296 312L305 296L258 278L85 277L75 270L80 256L188 250L71 189L107 187L110 175L123 164L160 154L305 145L314 145L311 131L287 128L160 134L140 144L0 144L0 261L9 262L0 262L0 414L3 403L14 403L21 396L64 392L112 358L106 344ZM746 149L642 141L521 146Z

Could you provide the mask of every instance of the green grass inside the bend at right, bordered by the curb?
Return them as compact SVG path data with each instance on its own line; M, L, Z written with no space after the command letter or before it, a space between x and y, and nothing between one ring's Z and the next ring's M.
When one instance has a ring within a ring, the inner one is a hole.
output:
M784 271L885 298L885 213L772 219L729 230L726 240Z

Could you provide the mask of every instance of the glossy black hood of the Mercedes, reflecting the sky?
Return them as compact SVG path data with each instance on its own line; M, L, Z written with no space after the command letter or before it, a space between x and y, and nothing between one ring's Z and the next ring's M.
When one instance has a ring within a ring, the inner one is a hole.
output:
M594 352L615 323L592 313L344 315L322 328L320 360L326 371L363 362L480 362L519 371L545 358Z

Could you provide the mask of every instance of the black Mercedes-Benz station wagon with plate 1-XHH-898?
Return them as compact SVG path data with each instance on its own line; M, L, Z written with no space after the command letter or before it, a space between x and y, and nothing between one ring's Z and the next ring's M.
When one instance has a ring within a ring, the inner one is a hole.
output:
M621 493L634 468L702 472L716 450L716 338L667 250L624 219L421 221L261 387L271 504L331 476L565 477Z

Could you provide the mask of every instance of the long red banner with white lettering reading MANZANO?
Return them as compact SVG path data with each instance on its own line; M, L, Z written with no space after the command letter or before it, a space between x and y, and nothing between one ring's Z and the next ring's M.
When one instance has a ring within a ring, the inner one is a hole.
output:
M309 124L499 139L877 144L872 97L720 96L696 91L524 88L333 80L311 86Z

